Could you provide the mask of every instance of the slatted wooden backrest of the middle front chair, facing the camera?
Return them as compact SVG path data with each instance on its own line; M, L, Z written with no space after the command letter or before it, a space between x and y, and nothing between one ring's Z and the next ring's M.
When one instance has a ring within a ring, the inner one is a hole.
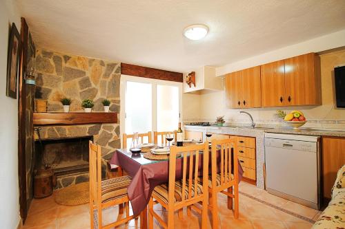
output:
M201 151L203 153L201 153ZM181 154L181 158L177 155ZM187 202L201 201L201 199L208 198L208 143L204 144L191 144L189 146L171 146L169 155L169 190L168 190L168 203L174 203L175 199L175 178L176 178L176 165L177 160L181 160L181 202L175 203L179 206L185 206ZM201 157L202 156L202 157ZM202 162L202 166L199 166ZM197 192L198 175L202 170L202 186L201 193ZM193 186L195 187L194 193L192 192ZM186 189L188 188L188 189ZM188 190L188 197L184 195L185 190ZM192 203L192 204L193 204Z

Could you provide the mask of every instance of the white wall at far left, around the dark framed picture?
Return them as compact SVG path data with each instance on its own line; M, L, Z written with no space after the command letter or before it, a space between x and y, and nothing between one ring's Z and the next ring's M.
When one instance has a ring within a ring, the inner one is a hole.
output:
M17 6L0 1L0 228L17 228L19 223L18 184L18 100L6 96L8 31L12 22L21 28Z

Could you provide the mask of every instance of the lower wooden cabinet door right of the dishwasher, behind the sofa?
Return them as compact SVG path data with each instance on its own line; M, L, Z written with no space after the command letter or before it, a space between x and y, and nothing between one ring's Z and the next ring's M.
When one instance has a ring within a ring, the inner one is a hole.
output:
M322 138L322 173L324 197L331 199L337 171L345 164L345 138Z

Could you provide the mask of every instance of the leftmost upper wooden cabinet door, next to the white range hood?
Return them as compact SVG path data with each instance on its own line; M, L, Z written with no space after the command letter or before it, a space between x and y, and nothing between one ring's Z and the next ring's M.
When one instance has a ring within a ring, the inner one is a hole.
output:
M226 108L241 108L241 72L233 72L225 77Z

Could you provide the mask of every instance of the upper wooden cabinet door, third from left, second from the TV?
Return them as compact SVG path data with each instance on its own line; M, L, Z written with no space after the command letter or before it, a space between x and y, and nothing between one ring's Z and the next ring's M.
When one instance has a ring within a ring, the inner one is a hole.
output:
M275 61L261 66L262 107L284 106L285 97L284 61Z

